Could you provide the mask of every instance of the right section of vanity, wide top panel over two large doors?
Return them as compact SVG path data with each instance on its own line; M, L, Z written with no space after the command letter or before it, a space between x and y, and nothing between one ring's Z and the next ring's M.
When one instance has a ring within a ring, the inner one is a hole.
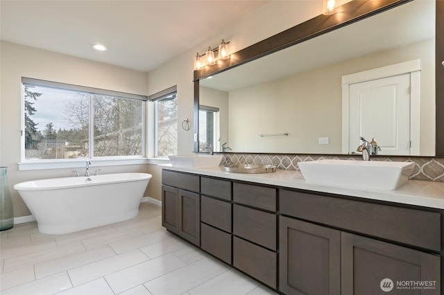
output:
M281 292L441 294L441 213L291 190L280 208Z

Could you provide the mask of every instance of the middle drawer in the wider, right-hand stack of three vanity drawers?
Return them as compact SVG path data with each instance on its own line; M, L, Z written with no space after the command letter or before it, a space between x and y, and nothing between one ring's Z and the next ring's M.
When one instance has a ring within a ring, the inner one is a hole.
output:
M233 206L233 233L276 251L277 217L273 213Z

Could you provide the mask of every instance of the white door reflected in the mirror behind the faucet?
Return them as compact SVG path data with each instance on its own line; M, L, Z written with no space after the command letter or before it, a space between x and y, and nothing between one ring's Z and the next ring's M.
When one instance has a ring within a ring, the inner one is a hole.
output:
M375 138L379 154L410 154L410 74L350 84L349 150Z

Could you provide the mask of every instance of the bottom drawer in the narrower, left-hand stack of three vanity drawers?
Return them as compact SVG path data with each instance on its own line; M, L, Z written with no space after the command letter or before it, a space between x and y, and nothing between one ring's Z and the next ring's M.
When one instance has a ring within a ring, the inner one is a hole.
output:
M200 224L200 248L231 265L230 233L219 231L207 224Z

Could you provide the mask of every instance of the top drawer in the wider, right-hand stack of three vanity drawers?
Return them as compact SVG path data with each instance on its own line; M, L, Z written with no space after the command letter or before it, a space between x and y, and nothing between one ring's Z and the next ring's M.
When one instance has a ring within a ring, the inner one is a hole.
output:
M239 204L276 212L275 188L233 183L233 200Z

